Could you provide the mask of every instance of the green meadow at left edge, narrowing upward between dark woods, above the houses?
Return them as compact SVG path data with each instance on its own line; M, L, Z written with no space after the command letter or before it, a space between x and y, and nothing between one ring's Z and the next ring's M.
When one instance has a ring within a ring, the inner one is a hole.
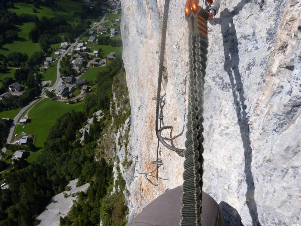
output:
M36 51L40 51L39 43L33 43L29 39L29 31L35 27L35 23L25 23L23 25L16 25L18 32L18 40L7 43L0 49L0 54L7 56L11 52L26 53L28 56Z

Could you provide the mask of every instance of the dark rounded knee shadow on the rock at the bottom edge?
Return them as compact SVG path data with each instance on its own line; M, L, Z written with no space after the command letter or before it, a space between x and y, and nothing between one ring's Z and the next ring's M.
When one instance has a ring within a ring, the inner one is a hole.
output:
M223 214L225 226L244 226L237 210L230 206L227 202L220 202L219 207Z

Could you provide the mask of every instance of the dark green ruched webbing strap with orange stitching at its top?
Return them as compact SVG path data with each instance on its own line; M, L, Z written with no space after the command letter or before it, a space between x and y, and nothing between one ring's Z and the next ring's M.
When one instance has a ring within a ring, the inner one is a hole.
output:
M203 84L208 48L207 20L209 13L199 7L186 18L189 27L189 94L182 220L184 225L201 225L203 176Z

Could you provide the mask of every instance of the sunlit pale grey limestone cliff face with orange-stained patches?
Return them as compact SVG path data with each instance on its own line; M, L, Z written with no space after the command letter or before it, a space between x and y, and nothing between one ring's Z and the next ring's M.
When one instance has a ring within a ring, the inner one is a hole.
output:
M138 171L148 172L155 169L151 161L157 148L151 98L157 89L164 1L121 4L132 112L124 154L127 161L138 155ZM184 0L170 3L162 88L164 122L173 126L173 144L179 148L185 148L189 83L184 5ZM300 10L299 0L222 1L208 24L203 190L220 204L226 225L301 224ZM184 159L162 145L160 151L159 176L165 180L153 180L157 187L134 170L134 163L122 169L129 219L167 188L182 184Z

